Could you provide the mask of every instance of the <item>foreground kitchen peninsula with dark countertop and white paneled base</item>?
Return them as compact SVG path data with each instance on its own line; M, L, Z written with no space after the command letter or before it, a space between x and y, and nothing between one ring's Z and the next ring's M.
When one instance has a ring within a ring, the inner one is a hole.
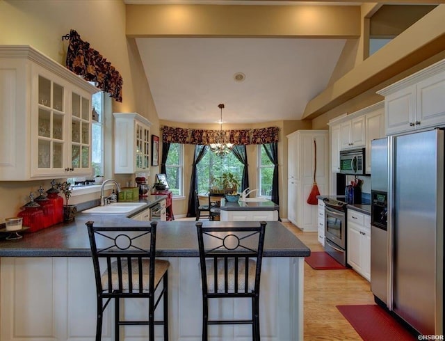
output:
M136 212L137 213L137 212ZM133 212L132 214L135 214ZM146 225L125 214L78 214L69 224L25 234L16 241L0 241L0 340L94 340L95 280L85 223L99 226ZM258 223L258 222L255 222ZM248 222L206 222L242 226ZM159 222L157 255L169 269L170 339L201 339L201 290L195 221ZM281 223L266 227L261 271L261 334L274 340L302 340L303 268L310 254ZM125 317L141 318L146 311L136 301L124 302ZM211 306L211 315L224 311L250 314L248 302ZM113 309L104 315L104 337L113 340ZM140 316L139 316L140 315ZM160 333L161 331L159 331ZM125 338L147 337L147 328L124 328ZM249 326L211 328L211 336L241 340ZM124 339L127 340L127 339Z

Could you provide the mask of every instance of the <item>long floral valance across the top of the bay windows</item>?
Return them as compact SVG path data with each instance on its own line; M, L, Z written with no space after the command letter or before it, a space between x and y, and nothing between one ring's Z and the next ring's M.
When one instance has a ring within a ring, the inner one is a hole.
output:
M240 130L205 130L162 127L162 141L192 145L233 143L234 145L261 145L278 142L278 127Z

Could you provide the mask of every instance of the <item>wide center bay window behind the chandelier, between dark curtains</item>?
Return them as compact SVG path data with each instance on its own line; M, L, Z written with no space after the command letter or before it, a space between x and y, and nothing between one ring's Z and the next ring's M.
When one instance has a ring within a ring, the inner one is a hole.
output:
M243 164L233 152L221 157L207 150L199 164L197 164L197 191L208 193L210 189L221 189L223 173L232 173L241 184ZM238 189L239 191L240 189Z

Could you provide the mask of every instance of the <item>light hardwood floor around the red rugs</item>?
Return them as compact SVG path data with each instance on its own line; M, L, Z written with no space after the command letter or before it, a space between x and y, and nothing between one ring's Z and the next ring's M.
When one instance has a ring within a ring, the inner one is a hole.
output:
M311 251L323 251L317 232L302 232L283 223ZM362 340L336 308L338 305L373 304L371 285L352 269L314 270L305 262L305 340Z

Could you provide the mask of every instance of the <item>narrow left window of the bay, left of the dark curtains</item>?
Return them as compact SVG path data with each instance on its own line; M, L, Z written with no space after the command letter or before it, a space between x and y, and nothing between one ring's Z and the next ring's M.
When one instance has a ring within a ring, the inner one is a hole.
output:
M181 143L170 143L167 161L165 162L165 173L167 173L168 186L173 197L184 196L182 185L183 150Z

